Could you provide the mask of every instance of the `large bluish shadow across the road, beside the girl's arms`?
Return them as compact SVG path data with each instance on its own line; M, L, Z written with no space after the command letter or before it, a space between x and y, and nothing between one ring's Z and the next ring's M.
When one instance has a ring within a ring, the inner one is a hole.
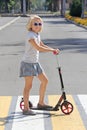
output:
M44 39L43 42L54 48L64 51L72 51L73 53L87 53L87 39Z

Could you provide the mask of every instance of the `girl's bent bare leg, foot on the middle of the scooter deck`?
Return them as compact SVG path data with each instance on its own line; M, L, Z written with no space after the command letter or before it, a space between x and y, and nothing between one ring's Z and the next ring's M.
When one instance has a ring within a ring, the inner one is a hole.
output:
M44 96L45 96L46 86L48 83L48 78L45 75L45 73L39 74L38 78L41 81L40 90L39 90L39 95L40 95L39 104L44 105Z

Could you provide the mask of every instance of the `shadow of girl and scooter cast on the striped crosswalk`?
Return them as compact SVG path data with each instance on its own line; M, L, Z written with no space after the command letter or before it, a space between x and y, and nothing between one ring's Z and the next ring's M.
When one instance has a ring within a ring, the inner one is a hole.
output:
M39 116L38 116L39 115ZM0 117L0 126L4 126L7 123L12 123L13 120L15 122L24 122L27 120L38 120L38 119L44 119L44 118L51 118L51 117L57 117L57 116L64 116L64 114L54 114L49 112L37 112L36 116L26 116L23 115L22 112L13 112L7 117ZM26 118L29 117L29 118Z

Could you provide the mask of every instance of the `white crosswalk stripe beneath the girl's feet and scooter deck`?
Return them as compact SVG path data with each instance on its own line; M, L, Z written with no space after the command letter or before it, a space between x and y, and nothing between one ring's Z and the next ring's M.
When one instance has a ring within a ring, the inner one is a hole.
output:
M38 102L38 96L30 96L30 100L36 106ZM18 97L15 116L13 120L12 130L44 130L44 115L43 111L37 111L39 114L35 116L24 116L20 110L21 97Z

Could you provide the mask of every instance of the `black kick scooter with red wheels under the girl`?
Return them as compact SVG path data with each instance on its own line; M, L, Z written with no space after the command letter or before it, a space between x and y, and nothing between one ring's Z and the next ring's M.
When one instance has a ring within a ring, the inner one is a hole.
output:
M58 62L58 55L54 52L54 54L56 55L56 59L57 59L57 69L58 69L58 73L59 73L59 77L60 77L60 83L61 83L61 91L62 94L57 102L57 104L54 107L50 107L50 108L45 108L45 109L38 109L37 107L33 107L33 104L31 103L31 101L29 101L29 107L33 110L45 110L45 111L58 111L59 108L61 109L61 111L65 114L68 115L70 113L73 112L73 105L72 103L70 103L67 99L66 99L66 93L64 90L64 84L63 84L63 78L62 78L62 72L61 72L61 67L59 66L59 62ZM21 110L24 109L24 100L22 98L21 102L20 102L20 108Z

